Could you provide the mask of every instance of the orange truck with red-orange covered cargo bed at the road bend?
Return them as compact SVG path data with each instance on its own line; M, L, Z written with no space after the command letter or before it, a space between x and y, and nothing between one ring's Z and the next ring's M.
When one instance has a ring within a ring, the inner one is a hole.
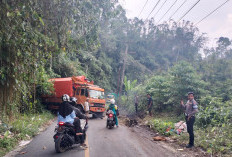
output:
M50 79L54 84L54 93L50 96L42 96L43 104L48 109L58 110L62 103L62 95L68 94L70 97L77 98L77 108L83 113L88 112L94 117L102 117L105 111L104 89L94 85L85 76L73 76L67 78ZM88 107L86 106L88 98Z

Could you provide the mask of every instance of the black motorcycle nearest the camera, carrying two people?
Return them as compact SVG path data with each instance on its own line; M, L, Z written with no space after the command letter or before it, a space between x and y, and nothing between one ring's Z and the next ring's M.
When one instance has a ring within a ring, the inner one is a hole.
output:
M86 121L83 135L85 136L88 129L88 122ZM57 153L63 153L74 144L80 144L80 138L76 136L73 124L59 122L58 126L55 128L55 135L53 136L55 142L55 150Z

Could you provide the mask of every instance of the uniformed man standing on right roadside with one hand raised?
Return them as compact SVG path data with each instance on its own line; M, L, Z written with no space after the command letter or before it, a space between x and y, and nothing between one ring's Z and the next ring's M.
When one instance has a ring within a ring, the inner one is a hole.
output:
M194 133L193 133L193 124L195 122L195 114L198 112L197 102L194 100L194 93L188 93L188 101L184 104L181 100L181 106L184 108L185 120L187 123L187 131L189 133L189 144L186 148L191 148L194 146Z

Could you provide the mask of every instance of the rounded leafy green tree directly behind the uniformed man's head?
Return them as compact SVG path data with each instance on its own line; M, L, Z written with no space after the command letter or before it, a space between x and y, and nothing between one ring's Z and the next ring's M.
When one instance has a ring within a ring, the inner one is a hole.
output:
M169 74L171 84L168 103L173 104L177 109L180 106L180 100L185 99L188 92L194 92L198 100L206 93L206 83L201 80L191 64L180 62L170 69Z

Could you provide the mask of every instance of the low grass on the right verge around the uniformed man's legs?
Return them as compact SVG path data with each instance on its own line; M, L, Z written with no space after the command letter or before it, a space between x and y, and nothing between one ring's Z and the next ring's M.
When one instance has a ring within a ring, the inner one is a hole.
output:
M174 129L174 124L180 120L184 120L184 118L181 119L181 117L171 115L156 115L149 121L149 124L156 132L177 139L179 144L187 144L189 139L188 133L182 133L181 135L177 135L175 131L166 133L167 128ZM208 126L207 128L200 128L194 125L194 134L196 147L201 147L212 155L228 156L232 154L231 125L223 127Z

